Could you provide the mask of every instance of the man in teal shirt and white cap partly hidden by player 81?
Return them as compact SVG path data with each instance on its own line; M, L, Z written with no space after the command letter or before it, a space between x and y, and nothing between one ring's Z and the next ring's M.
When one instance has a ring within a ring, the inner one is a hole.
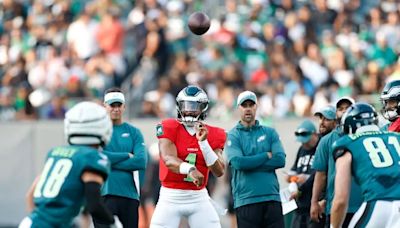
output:
M314 220L318 219L318 214L315 213L316 202L321 194L323 189L326 189L326 209L325 212L327 214L325 227L329 227L330 225L330 213L332 207L332 200L334 196L334 186L335 186L335 161L333 158L333 143L338 140L342 135L342 130L339 127L340 119L342 118L343 113L347 110L350 105L354 103L354 100L349 97L342 97L336 102L336 128L324 136L317 147L317 152L315 154L315 161L313 167L318 172L323 172L326 175L326 183L319 182L317 179L314 180L314 189L313 196L311 200L312 208L311 208L311 218ZM315 186L319 188L315 188ZM344 221L344 227L347 227L354 213L358 210L362 203L361 189L358 184L355 183L354 180L351 182L351 197L349 208L347 210L346 219ZM314 191L315 190L315 191ZM313 213L314 212L314 213Z

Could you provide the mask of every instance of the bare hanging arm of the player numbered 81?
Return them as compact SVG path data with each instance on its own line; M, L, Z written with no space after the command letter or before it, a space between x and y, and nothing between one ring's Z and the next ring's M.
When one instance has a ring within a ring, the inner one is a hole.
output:
M351 153L345 153L336 160L335 196L331 210L331 227L342 227L349 202L351 182ZM339 187L340 186L340 187Z

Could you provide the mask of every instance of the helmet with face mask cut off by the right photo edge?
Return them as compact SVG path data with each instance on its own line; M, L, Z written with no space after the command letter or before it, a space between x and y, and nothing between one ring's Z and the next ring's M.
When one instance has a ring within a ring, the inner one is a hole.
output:
M397 106L387 107L388 101L396 101ZM382 115L393 122L400 116L400 80L388 82L381 93L381 102L383 104Z

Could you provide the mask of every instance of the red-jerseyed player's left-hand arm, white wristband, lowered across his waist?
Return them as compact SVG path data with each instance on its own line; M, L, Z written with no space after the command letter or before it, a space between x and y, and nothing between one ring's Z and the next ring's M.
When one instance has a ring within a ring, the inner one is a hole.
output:
M192 164L182 161L178 158L178 152L175 144L167 139L160 138L158 140L158 147L160 149L160 158L164 161L165 166L174 173L189 174L193 179L193 183L201 186L204 181L203 174L196 169Z

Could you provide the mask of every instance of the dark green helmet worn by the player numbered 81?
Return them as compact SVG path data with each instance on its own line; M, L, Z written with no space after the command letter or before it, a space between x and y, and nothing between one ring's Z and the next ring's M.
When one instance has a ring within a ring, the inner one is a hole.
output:
M378 114L372 105L358 102L343 114L341 128L345 134L354 134L359 127L378 124Z

